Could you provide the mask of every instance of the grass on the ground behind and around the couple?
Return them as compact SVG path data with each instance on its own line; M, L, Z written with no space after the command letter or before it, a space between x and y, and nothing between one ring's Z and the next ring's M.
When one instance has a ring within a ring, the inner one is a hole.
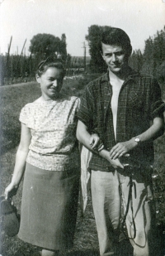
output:
M80 96L89 80L95 77L88 75L85 79L80 80L64 80L64 93ZM20 123L18 121L21 108L35 99L40 97L40 86L35 82L25 83L21 85L7 85L0 88L1 94L1 174L0 174L0 193L9 184L12 178L14 168L16 147L20 139ZM157 221L158 224L165 225L165 202L164 202L164 166L165 166L165 136L155 141L155 164L154 171L160 176L153 180L154 192L157 205ZM14 204L20 212L21 205L20 188L14 196ZM2 231L2 230L1 230ZM37 256L38 248L31 244L26 244L20 239L9 238L1 232L0 254L2 256ZM63 256L97 256L98 241L97 229L94 216L92 213L91 200L88 201L87 211L82 218L80 206L78 206L78 223L75 233L74 247L72 250L62 252ZM124 254L121 254L125 256ZM161 254L162 255L162 254Z

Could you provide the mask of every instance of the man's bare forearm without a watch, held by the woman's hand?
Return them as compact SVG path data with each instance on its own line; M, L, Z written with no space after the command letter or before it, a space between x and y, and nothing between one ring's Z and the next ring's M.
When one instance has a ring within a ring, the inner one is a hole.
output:
M85 147L87 147L88 150L90 150L93 153L97 153L101 157L105 158L108 162L110 162L111 166L114 167L115 169L124 168L123 165L120 163L119 159L111 159L110 152L108 152L106 149L102 149L100 152L92 149L90 145L91 134L88 133L87 126L80 120L78 121L77 138L78 141L81 142Z

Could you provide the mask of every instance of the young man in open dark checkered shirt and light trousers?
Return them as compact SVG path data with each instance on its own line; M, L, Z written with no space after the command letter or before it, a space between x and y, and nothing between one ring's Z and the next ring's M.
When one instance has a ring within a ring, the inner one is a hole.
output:
M131 51L125 31L102 34L108 71L87 85L78 112L78 140L92 150L94 132L104 144L89 163L101 256L116 255L121 208L134 256L151 255L153 139L164 131L164 103L158 82L128 65Z

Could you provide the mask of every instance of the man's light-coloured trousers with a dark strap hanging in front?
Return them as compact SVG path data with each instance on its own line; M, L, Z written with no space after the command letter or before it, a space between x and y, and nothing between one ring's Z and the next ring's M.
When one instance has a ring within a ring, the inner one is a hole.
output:
M125 174L125 173L123 173ZM134 256L150 256L154 202L151 177L132 177L115 172L92 171L92 205L97 224L100 255L116 255L119 246L121 203ZM130 198L129 198L130 197ZM134 237L135 236L135 237Z

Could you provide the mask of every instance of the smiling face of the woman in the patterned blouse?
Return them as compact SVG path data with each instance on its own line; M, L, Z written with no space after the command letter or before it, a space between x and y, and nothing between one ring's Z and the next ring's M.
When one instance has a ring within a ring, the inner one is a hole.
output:
M36 76L36 80L40 84L42 97L45 100L59 97L59 91L63 85L63 74L63 70L50 67L41 76Z

